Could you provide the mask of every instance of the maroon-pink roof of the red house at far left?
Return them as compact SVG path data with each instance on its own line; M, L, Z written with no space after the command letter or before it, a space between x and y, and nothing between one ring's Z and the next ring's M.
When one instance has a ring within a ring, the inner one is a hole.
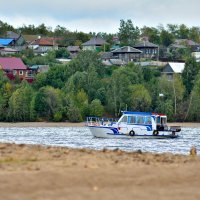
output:
M2 69L6 70L25 70L27 69L26 65L22 62L21 58L0 58L0 66Z

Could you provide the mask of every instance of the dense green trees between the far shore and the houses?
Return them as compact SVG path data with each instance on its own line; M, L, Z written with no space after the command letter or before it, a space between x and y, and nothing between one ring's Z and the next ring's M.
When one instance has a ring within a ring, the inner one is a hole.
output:
M182 76L169 81L157 67L106 67L96 52L83 51L69 64L52 64L33 84L11 82L0 73L0 120L78 122L88 115L119 117L122 110L134 110L198 121L199 69L190 57Z

